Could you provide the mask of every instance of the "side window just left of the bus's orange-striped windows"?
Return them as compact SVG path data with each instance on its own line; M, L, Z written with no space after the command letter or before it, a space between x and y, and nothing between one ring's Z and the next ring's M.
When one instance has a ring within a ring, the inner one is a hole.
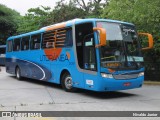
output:
M30 48L31 50L40 49L41 34L31 36Z

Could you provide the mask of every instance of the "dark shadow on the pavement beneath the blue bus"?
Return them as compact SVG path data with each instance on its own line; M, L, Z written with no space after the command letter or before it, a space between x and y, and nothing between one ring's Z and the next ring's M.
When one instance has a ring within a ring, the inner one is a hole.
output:
M17 80L15 76L10 76L13 79ZM29 79L29 78L23 78L24 82L29 82L33 84L38 84L42 85L44 87L49 87L49 88L54 88L60 91L62 90L61 85L50 83L50 82L45 82L45 81L39 81L39 80L34 80L34 79ZM64 91L65 92L65 91ZM78 89L74 93L67 93L67 94L81 94L83 97L92 97L92 98L98 98L98 99L114 99L114 98L125 98L125 97L134 97L138 96L138 94L132 94L132 93L126 93L125 91L114 91L114 92L95 92L95 91L89 91L89 90L83 90L83 89Z

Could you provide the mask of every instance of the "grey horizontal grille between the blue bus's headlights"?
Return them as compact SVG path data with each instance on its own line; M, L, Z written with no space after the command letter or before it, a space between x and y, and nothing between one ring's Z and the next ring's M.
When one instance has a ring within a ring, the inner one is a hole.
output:
M138 77L138 73L135 73L135 74L119 74L119 75L113 75L113 77L117 80L135 79L135 78Z

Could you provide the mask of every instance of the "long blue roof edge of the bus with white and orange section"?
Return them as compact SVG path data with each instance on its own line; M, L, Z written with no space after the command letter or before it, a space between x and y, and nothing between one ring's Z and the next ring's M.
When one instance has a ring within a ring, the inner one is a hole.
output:
M37 31L33 31L33 32L29 32L29 33L25 33L25 34L21 34L21 35L17 35L17 36L12 36L12 37L9 37L7 40L20 38L20 37L24 37L24 36L27 36L27 35L34 35L34 34L37 34L37 33L42 33L42 32L49 31L49 30L54 30L54 29L57 29L57 28L70 27L73 24L80 24L80 23L85 23L85 22L96 22L96 21L106 21L106 22L134 25L132 23L118 21L118 20L111 20L111 19L97 19L97 18L79 19L79 18L76 18L76 19L72 19L72 20L69 20L69 21L65 21L65 22L54 24L54 25L46 26L46 27L43 27L43 28L41 28Z

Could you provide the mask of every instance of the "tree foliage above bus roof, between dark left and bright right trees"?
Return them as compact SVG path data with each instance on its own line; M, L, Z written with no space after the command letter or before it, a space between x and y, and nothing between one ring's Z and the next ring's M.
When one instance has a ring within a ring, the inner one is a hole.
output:
M38 30L41 27L71 20L74 18L93 18L100 15L108 0L60 0L53 10L49 7L30 8L20 18L18 34Z

